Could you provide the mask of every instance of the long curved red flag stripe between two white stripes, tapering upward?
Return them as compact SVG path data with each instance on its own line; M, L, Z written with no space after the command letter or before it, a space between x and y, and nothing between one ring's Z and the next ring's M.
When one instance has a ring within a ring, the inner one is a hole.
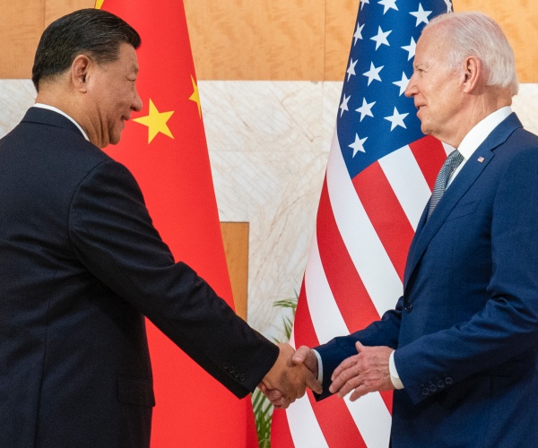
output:
M317 246L325 276L349 332L377 321L377 309L360 280L334 220L326 178L317 211Z

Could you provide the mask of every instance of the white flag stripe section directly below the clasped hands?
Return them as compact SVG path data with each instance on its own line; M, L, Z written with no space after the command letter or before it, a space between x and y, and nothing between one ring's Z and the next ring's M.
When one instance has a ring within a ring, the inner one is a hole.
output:
M295 448L328 448L306 394L286 409L286 416Z

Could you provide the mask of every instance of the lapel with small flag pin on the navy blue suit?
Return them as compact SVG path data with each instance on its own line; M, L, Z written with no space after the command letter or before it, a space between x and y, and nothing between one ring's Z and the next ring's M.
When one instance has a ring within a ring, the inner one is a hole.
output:
M516 114L512 113L491 132L488 138L473 152L471 158L466 161L464 168L462 168L452 184L449 185L447 192L443 194L430 219L426 221L426 210L428 210L430 204L428 202L409 249L404 273L404 288L407 286L412 272L416 269L422 254L430 244L431 238L437 234L438 229L447 220L457 202L471 188L476 179L482 174L484 168L488 166L490 160L493 159L495 155L493 150L506 142L508 136L518 127L522 127L521 122Z

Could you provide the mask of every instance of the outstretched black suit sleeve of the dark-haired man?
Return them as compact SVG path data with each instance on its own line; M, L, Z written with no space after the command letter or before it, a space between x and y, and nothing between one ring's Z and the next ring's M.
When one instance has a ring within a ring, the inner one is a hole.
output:
M187 264L174 262L125 167L105 161L91 170L74 194L69 216L77 256L118 299L146 315L235 395L254 391L278 348Z

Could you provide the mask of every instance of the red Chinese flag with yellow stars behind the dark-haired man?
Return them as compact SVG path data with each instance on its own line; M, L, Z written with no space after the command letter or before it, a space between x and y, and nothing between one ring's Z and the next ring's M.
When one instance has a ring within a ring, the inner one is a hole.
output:
M98 0L142 37L143 109L108 154L131 170L155 228L233 306L195 67L181 0ZM152 447L257 446L249 397L238 400L148 323L157 405Z

